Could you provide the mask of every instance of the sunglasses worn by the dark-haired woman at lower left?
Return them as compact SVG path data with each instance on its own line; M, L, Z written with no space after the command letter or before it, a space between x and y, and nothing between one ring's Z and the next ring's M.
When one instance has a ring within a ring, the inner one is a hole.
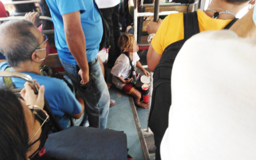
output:
M29 106L30 105L28 105L28 107ZM33 114L35 114L35 116L37 116L39 119L43 121L43 123L41 124L41 127L38 129L38 131L36 131L36 134L38 134L39 130L43 127L44 123L49 122L49 115L46 113L46 111L44 111L42 108L40 108L37 105L34 105L32 108L30 108L30 110L32 111ZM28 142L28 145L33 140L33 138L35 138L36 134Z

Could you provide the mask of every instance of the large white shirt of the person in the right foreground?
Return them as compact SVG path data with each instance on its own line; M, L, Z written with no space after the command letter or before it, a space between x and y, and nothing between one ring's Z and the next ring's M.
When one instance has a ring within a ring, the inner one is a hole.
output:
M176 57L163 160L256 159L256 39L207 31Z

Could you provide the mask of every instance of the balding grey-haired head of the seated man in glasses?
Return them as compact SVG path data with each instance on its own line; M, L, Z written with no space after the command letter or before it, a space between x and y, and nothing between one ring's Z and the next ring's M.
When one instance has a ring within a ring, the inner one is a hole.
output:
M41 32L25 20L11 20L0 25L0 52L10 66L18 67L21 62L41 65L46 58L46 43Z

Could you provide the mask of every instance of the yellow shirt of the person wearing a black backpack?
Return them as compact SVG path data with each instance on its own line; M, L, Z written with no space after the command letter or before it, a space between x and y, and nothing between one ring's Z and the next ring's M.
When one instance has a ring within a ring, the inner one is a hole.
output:
M200 32L221 30L232 20L210 18L202 10L197 10L197 19ZM170 14L163 20L151 44L155 52L162 55L167 46L181 39L184 39L183 13Z

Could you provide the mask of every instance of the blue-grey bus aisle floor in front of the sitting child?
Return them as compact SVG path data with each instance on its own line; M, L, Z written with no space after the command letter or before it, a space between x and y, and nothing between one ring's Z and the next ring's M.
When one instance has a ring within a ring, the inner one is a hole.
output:
M142 65L146 65L145 53L139 54ZM110 81L110 68L107 73L107 79ZM144 137L142 129L147 128L148 110L134 106L131 96L118 90L114 86L109 89L110 98L116 101L116 104L109 110L107 128L125 132L128 143L128 154L133 160L153 160L155 159L154 138ZM143 141L144 139L144 141ZM147 145L143 145L143 142ZM148 152L145 151L147 148Z

